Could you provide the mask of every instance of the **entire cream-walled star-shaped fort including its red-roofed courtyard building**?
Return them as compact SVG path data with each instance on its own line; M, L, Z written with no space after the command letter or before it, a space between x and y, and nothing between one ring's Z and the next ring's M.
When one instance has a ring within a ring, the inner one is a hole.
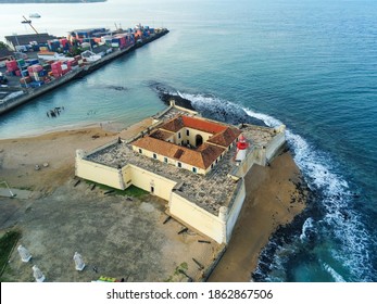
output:
M169 216L189 229L228 243L247 195L243 177L253 164L265 165L280 151L285 127L246 126L246 135L260 142L248 151L247 139L234 126L188 116L194 115L192 112L161 121L163 116L172 117L176 110L183 113L178 107L163 112L153 122L154 128L148 127L136 140L118 139L89 154L77 151L75 173L115 189L131 185L143 189L167 201ZM229 150L236 141L237 154L231 164L233 155L225 153L233 153ZM217 163L218 169L206 176L185 172L205 175Z

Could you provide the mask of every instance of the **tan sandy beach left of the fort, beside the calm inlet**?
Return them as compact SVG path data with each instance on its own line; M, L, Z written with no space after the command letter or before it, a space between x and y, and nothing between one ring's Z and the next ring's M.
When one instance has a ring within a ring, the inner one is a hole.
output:
M147 118L121 132L112 125L99 124L80 129L61 130L28 138L0 140L0 180L14 188L29 189L34 197L51 192L74 176L77 149L90 151L116 139L138 134L152 122ZM37 174L35 166L49 165L48 170Z

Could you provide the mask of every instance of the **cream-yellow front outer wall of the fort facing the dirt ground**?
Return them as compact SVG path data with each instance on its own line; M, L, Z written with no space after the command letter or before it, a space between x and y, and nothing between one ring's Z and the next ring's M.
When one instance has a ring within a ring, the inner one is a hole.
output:
M173 191L177 181L130 164L122 169L112 168L86 161L83 155L83 152L77 151L76 176L122 190L134 185L151 192L151 187L153 187L153 194L169 202L168 212L173 217L218 243L226 243L230 239L244 200L243 180L241 187L238 188L239 192L233 198L234 202L229 205L230 212L228 213L228 208L222 207L219 215L216 216Z

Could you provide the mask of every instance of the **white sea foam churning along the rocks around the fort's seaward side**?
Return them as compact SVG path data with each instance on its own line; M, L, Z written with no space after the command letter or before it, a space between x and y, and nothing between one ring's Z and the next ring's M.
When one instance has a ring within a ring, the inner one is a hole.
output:
M226 112L229 115L242 111L251 117L263 121L269 127L282 124L282 122L271 115L242 107L215 96L186 92L178 92L178 94L190 100L192 106L199 112L211 113L215 118L218 118L218 113ZM312 235L321 233L321 239L325 239L330 246L325 250L329 252L331 259L337 261L337 265L343 265L345 269L340 270L349 274L348 278L344 279L332 268L336 266L331 265L331 267L329 265L330 262L326 261L327 263L324 262L323 265L326 265L324 267L334 280L372 281L369 269L373 267L368 255L370 236L368 236L360 220L359 214L352 210L352 193L349 190L347 180L342 178L336 161L332 160L334 156L317 150L315 145L307 142L302 136L293 132L289 126L286 131L286 138L294 162L303 173L309 188L316 193L315 204L319 204L324 212L319 220L307 218L303 224L301 233L291 236L292 239L300 240L301 244L297 244L300 246L309 230L311 230ZM277 269L285 265L287 253L293 252L291 245L289 250L284 246L279 248L280 254L276 255L273 265L268 267L268 271L273 271L275 275L280 273L281 276L281 269ZM322 244L318 243L317 246L322 246ZM281 259L281 256L285 256L285 258ZM319 259L321 257L318 256L317 258ZM265 265L263 268L267 270ZM284 278L281 279L284 280ZM273 280L278 279L274 278Z

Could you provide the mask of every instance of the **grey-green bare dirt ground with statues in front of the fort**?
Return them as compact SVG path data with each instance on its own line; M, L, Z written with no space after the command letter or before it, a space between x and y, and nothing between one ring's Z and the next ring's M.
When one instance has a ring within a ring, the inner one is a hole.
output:
M192 231L178 235L184 227L174 219L163 224L165 206L156 198L127 199L91 190L85 181L74 185L68 180L38 200L3 202L16 204L5 225L22 231L20 243L33 255L23 263L14 250L3 276L7 280L34 281L32 266L37 265L47 281L91 281L100 276L187 281L175 274L181 265L198 281L202 274L192 258L203 266L213 261L217 245L198 242L209 239ZM83 271L75 270L75 252L87 265Z

